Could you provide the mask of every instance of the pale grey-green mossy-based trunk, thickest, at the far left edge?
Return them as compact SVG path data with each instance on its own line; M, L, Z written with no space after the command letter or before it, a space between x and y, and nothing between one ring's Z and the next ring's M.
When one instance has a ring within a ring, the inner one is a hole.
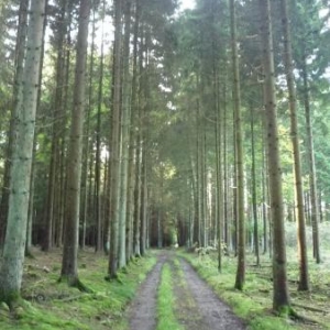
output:
M31 167L45 1L32 0L26 59L19 81L16 140L12 153L8 227L0 270L0 300L9 306L20 297L26 241Z

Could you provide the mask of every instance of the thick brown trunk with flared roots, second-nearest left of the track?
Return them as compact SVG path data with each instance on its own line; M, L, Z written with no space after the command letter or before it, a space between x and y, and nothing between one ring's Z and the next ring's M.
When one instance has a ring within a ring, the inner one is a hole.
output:
M79 289L82 289L82 286L78 279L77 254L89 12L90 1L81 0L77 35L74 107L72 111L72 129L67 155L67 201L65 210L65 235L61 271L61 280L67 280L68 285L77 286Z

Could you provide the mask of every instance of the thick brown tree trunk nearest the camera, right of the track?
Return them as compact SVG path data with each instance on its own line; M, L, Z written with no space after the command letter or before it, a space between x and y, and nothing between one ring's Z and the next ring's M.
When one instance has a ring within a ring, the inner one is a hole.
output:
M268 170L271 208L273 220L273 308L288 314L289 294L287 287L284 211L282 194L282 169L278 150L276 119L275 73L273 34L270 0L260 0L261 37L264 66L264 99L266 114L266 135L268 150Z

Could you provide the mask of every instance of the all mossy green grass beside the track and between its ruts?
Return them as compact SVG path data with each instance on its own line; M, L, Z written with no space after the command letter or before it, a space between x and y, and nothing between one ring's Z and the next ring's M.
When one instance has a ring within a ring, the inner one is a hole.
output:
M154 252L143 258L132 261L119 273L118 280L107 282L105 275L108 257L97 255L94 251L79 253L79 278L91 294L80 293L57 283L61 272L61 251L45 254L33 252L35 260L26 260L24 266L22 295L24 304L15 315L10 315L8 307L0 304L0 329L2 330L127 330L125 307L133 298L138 286L155 264ZM292 330L292 329L330 329L329 270L330 258L323 257L319 265L310 257L309 275L311 292L297 290L298 263L296 251L288 251L288 278L292 302L298 315L308 319L317 319L318 324L294 322L272 314L273 283L271 262L262 256L262 266L253 266L253 256L248 254L245 286L243 292L233 289L237 260L223 256L222 273L217 270L217 255L202 258L196 254L179 252L198 271L215 292L227 301L233 311L245 320L251 330ZM172 270L175 273L172 273ZM176 319L173 278L184 286L184 274L179 258L173 260L173 268L168 264L162 270L158 288L157 330L182 330Z

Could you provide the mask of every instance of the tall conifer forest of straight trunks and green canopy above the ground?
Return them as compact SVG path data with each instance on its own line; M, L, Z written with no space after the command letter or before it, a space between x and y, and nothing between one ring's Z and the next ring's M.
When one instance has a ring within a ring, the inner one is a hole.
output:
M268 267L305 320L293 283L330 296L329 44L328 0L2 0L0 302L35 255L90 294L81 253L111 285L179 248L242 293Z

